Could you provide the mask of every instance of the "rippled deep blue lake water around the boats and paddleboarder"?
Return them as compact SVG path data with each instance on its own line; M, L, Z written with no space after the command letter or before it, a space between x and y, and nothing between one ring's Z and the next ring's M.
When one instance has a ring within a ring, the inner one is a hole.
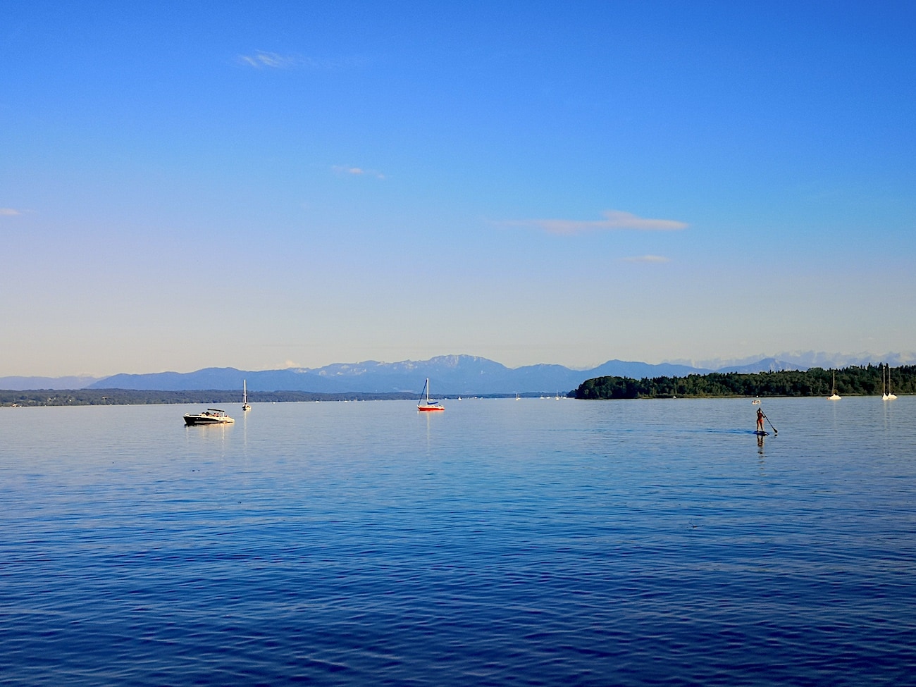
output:
M916 684L916 398L446 405L0 409L0 683Z

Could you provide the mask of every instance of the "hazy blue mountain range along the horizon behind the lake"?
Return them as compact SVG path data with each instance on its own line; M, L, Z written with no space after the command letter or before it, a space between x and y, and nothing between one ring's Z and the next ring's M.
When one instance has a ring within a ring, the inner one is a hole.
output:
M78 389L121 388L157 391L198 389L241 389L245 380L249 391L312 391L318 393L420 393L427 377L436 395L466 396L484 394L565 393L586 379L596 376L628 376L636 379L654 376L703 375L710 372L775 372L805 370L811 366L841 367L887 362L903 365L914 360L912 354L780 354L776 357L734 360L724 365L688 365L680 361L650 365L624 360L608 360L592 369L575 370L563 365L527 365L509 368L474 355L440 355L429 360L399 363L365 361L338 363L314 369L292 367L281 370L245 371L234 367L207 367L196 372L159 372L147 375L107 377L0 377L0 388ZM705 361L707 364L717 361Z

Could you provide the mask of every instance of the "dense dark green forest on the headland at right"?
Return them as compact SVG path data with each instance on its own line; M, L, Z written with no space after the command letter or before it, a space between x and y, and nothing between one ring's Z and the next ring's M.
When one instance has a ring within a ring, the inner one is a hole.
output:
M599 376L586 379L573 391L575 398L714 398L729 396L881 396L883 365L850 366L838 370L812 367L805 371L713 372L682 377L632 379ZM889 368L895 394L916 393L916 365ZM885 385L887 382L885 381Z

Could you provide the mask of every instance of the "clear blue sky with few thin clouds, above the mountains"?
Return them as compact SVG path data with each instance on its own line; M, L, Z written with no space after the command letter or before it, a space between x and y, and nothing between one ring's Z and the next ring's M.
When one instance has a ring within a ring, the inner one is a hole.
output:
M912 3L147 5L0 6L0 376L916 349Z

